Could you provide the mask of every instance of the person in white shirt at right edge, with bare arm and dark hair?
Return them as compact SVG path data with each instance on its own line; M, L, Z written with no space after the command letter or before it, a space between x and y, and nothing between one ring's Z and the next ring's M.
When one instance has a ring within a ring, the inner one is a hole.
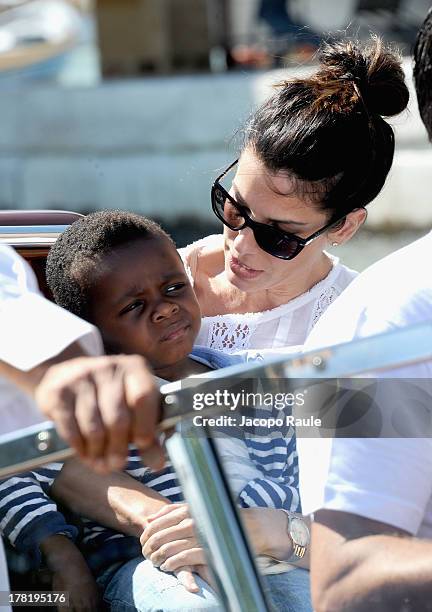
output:
M418 35L414 74L431 138L432 10ZM429 233L366 270L324 314L305 350L431 321L431 256ZM381 376L429 385L432 361ZM430 403L423 407L430 419ZM299 441L303 511L314 513L317 612L432 609L432 440L426 436Z

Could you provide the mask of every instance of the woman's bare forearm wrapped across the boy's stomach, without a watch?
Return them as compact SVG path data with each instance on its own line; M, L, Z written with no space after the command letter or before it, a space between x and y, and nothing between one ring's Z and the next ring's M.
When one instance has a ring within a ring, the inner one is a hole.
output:
M136 537L148 515L171 503L127 473L95 474L77 459L64 464L51 494L76 514Z

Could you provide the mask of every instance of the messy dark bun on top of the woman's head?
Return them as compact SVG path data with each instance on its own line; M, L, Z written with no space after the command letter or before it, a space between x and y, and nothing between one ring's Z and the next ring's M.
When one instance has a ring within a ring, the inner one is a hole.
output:
M321 49L320 63L316 83L324 89L335 80L343 89L356 85L369 113L391 117L407 107L409 92L400 57L377 36L367 45L353 41L327 43Z

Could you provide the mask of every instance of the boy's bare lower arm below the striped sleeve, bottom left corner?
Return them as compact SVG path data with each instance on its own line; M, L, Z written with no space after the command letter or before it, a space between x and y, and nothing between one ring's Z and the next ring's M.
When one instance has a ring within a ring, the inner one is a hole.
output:
M69 594L69 604L58 606L68 612L94 612L100 608L99 591L87 563L66 536L53 535L41 544L47 566L52 572L53 591Z

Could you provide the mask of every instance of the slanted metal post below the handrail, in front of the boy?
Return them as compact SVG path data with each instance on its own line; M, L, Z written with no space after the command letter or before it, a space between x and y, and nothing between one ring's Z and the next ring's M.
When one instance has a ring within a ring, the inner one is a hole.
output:
M220 599L230 612L267 612L247 538L213 441L182 422L166 443Z

